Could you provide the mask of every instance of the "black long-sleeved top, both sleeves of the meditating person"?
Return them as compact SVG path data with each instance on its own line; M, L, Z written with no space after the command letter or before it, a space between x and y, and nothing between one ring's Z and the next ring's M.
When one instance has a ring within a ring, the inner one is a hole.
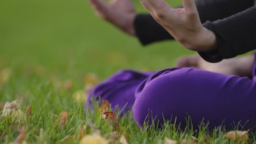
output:
M198 52L203 59L219 62L256 49L254 0L197 0L195 3L203 27L216 34L216 50ZM173 39L150 14L138 14L134 27L143 45Z

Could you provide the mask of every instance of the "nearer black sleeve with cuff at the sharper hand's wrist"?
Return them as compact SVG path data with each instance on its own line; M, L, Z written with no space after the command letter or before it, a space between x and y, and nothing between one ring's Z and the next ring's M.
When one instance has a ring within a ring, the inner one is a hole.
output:
M198 52L208 62L219 62L256 49L256 6L223 20L203 24L216 35L215 51Z

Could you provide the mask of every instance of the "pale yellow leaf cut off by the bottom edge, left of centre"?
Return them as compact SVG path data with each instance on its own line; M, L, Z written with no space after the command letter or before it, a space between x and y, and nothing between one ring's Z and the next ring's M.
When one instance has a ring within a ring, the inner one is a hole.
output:
M108 144L109 141L107 139L104 139L100 135L93 136L93 135L87 135L84 136L83 139L81 139L79 144Z

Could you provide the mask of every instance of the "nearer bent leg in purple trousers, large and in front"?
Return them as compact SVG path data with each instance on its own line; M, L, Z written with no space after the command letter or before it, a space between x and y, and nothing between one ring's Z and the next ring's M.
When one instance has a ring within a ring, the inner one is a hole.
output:
M210 129L239 122L252 128L256 120L256 81L248 77L222 75L195 68L169 68L147 77L136 90L133 114L141 127L163 117L181 123L192 119L194 128L204 119Z

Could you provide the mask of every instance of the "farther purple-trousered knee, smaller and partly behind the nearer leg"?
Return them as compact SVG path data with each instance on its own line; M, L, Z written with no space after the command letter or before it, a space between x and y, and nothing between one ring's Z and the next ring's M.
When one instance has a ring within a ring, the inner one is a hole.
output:
M88 93L88 100L85 103L92 108L91 98L95 98L96 101L101 97L102 102L104 99L108 100L115 109L118 105L119 109L126 111L131 109L135 101L135 90L139 84L145 80L149 75L154 72L136 72L133 70L121 70L116 72L111 77L107 78L99 85L96 85L93 90Z

